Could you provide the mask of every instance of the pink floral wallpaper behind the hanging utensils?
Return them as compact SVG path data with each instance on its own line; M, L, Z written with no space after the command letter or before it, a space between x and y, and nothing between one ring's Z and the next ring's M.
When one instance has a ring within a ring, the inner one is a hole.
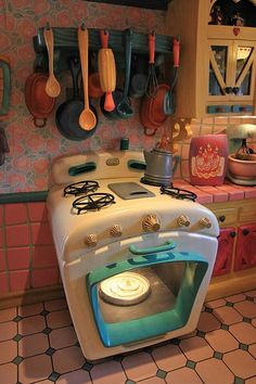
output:
M155 138L143 135L139 121L139 103L132 101L135 116L128 120L107 120L99 113L99 126L93 137L85 141L66 140L55 127L54 112L44 128L36 128L26 107L24 88L34 71L33 37L47 22L52 27L78 27L85 22L88 28L125 29L163 34L164 11L143 10L93 3L81 0L0 0L1 54L10 61L11 105L7 116L0 117L10 153L0 167L0 193L43 191L49 189L52 159L59 155L88 150L118 149L119 140L128 137L131 149L150 149ZM64 98L57 98L56 106Z

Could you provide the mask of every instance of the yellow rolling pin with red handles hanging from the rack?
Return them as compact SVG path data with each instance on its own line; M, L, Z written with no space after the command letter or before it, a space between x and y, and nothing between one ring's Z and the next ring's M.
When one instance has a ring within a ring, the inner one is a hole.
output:
M116 66L113 51L107 48L108 36L108 31L100 30L102 48L98 54L98 66L101 88L105 92L104 110L111 112L115 108L112 92L116 88Z

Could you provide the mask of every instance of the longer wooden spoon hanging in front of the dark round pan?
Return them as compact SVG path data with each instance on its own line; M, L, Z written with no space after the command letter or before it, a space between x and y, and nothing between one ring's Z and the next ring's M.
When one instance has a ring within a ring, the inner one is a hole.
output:
M78 28L78 47L81 62L84 84L85 108L79 116L79 125L82 129L91 130L97 125L97 117L90 110L88 95L88 30L81 26Z

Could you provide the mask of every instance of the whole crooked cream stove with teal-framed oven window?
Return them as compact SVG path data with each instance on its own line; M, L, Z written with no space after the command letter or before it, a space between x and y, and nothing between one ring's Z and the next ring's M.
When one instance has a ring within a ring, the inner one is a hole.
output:
M216 217L188 191L172 196L174 189L142 183L143 174L143 154L132 151L64 156L53 164L49 217L89 360L192 332L207 292Z

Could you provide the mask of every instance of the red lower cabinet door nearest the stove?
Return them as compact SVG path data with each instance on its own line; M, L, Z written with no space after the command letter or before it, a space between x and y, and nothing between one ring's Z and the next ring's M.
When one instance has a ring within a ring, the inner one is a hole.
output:
M235 231L234 228L220 229L219 245L214 266L213 277L230 272Z

